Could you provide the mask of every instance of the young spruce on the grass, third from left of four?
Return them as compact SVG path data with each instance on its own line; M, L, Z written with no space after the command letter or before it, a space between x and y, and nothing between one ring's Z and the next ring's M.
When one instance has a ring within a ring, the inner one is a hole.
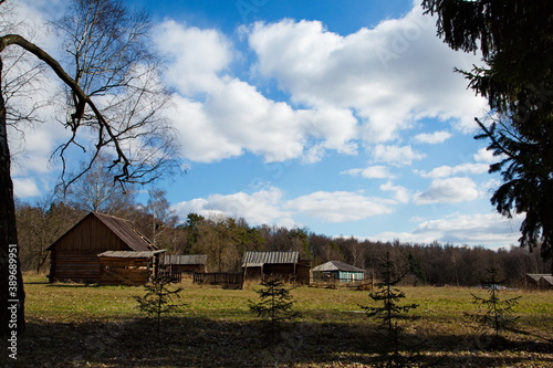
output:
M379 303L380 306L361 305L361 307L365 311L367 317L377 322L377 345L385 367L406 367L410 361L410 357L401 354L406 346L403 344L403 327L399 322L409 319L406 313L417 308L418 305L399 305L399 302L405 298L405 293L397 288L396 285L405 276L405 273L397 274L395 272L395 264L389 252L382 260L380 269L382 282L376 284L376 292L369 293L369 297Z

